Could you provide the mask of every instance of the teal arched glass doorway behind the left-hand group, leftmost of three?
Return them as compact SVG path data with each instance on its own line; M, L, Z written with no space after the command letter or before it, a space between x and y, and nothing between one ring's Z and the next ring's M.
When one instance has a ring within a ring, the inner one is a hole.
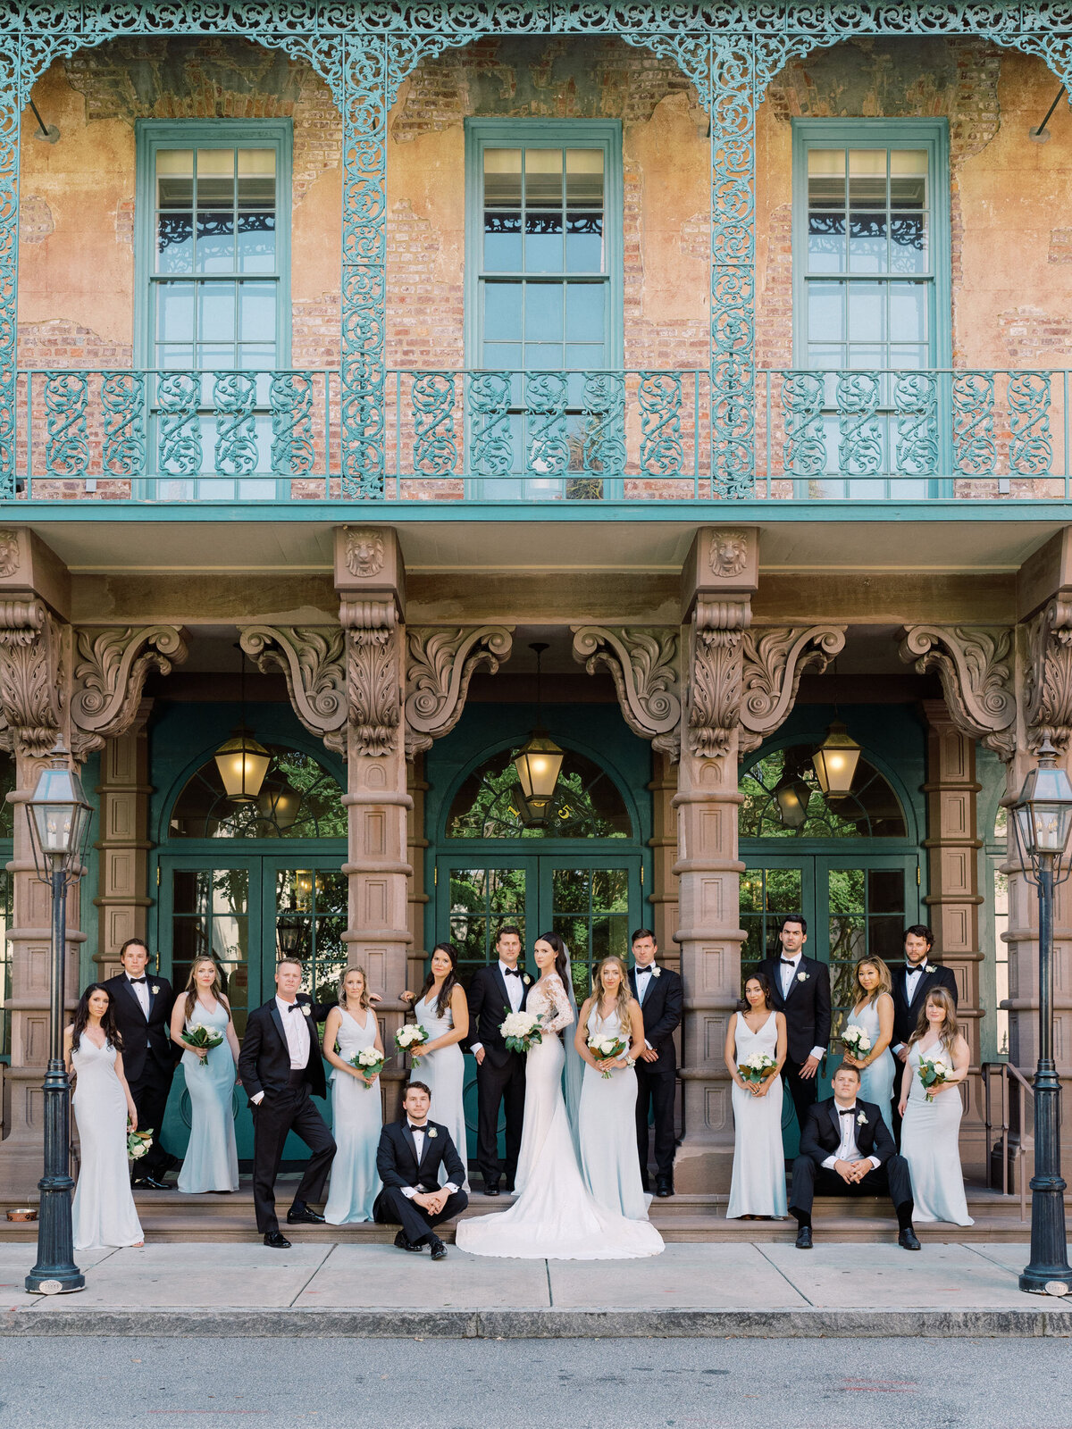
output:
M220 967L239 1037L253 1007L273 992L284 952L302 959L303 990L333 1000L346 967L346 810L337 776L294 745L272 756L260 796L233 803L213 752L176 782L157 855L157 947L174 987L194 957ZM169 1105L169 1146L182 1143L189 1103L182 1077ZM234 1097L239 1156L253 1155L244 1097ZM184 1125L183 1125L184 1123ZM294 1143L294 1153L299 1143Z

